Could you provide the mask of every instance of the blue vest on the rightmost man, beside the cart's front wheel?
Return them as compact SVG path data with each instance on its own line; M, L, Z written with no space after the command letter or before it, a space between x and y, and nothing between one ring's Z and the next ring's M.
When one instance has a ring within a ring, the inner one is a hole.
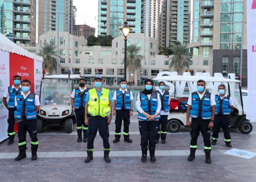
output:
M223 115L230 115L231 110L229 108L229 100L230 96L224 97L223 99L220 98L219 95L215 95L215 114L223 114Z

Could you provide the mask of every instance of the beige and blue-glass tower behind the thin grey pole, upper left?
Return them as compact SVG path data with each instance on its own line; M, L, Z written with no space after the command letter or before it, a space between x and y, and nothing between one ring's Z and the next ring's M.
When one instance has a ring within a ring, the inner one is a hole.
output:
M73 0L39 1L39 36L47 31L57 31L59 13L59 31L72 33Z

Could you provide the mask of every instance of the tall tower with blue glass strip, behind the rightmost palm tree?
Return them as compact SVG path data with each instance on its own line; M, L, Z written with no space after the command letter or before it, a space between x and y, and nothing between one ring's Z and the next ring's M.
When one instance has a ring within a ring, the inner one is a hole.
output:
M176 42L189 43L190 0L164 0L160 3L158 41L162 47Z

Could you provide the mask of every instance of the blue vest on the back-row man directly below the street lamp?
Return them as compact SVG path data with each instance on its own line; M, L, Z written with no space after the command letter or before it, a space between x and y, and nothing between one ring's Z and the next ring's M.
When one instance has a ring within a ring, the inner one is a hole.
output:
M115 110L122 111L131 110L131 99L130 99L130 90L125 91L123 94L122 91L116 90L116 102L115 102Z

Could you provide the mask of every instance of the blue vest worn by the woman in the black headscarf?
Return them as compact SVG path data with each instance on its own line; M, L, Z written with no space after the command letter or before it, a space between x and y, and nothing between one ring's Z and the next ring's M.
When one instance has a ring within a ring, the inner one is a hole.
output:
M155 115L157 111L157 92L156 91L152 92L150 96L150 100L148 99L147 95L140 92L140 100L141 100L141 108L143 109L143 111L147 114ZM138 117L140 120L148 121L146 116L141 113L139 113ZM158 114L158 116L155 119L156 120L160 119L160 114Z

